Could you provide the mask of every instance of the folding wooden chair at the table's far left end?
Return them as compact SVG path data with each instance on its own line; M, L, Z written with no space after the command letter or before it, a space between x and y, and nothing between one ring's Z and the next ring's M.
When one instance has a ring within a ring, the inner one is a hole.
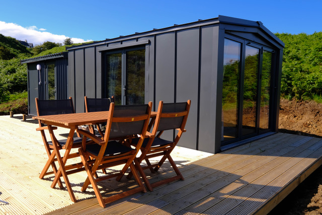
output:
M39 100L38 98L36 98L35 101L36 101L36 109L37 109L38 116L68 114L68 113L75 112L71 97L69 97L69 99L63 99L63 100ZM50 175L50 174L56 175L57 168L55 165L55 161L57 161L57 156L54 153L54 149L55 147L57 151L65 149L67 139L57 140L56 137L52 135L52 137L54 138L54 142L48 141L45 134L45 130L48 130L48 126L45 126L43 123L41 123L40 120L38 121L39 121L39 128L36 128L36 130L41 132L43 143L48 155L48 161L39 176L40 179L43 179L45 175ZM57 129L57 127L52 127L52 128ZM79 148L81 146L82 146L82 138L74 137L72 148ZM74 158L78 156L79 156L78 153L73 153L73 154L69 154L68 158ZM53 171L48 172L48 169L50 166L52 167ZM83 164L79 163L78 166L82 167ZM58 186L60 188L63 187L60 179L58 180Z

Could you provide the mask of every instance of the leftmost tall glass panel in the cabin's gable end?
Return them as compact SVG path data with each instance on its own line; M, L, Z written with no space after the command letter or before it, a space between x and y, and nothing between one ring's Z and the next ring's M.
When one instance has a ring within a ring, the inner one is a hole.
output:
M240 43L225 39L222 86L222 140L237 137L240 48Z

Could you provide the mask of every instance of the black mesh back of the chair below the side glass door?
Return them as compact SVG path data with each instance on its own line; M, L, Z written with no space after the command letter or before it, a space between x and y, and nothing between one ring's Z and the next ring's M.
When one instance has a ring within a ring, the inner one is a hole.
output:
M108 111L114 96L111 98L88 98L85 96L86 112Z

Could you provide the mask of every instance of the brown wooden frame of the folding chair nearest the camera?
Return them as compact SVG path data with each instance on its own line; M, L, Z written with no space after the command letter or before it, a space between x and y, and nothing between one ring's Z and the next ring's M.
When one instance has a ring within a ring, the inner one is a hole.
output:
M88 131L78 129L78 132L83 134L83 145L82 145L82 148L78 149L78 152L81 155L82 162L83 162L86 172L88 174L88 177L85 180L84 185L81 190L86 191L87 187L90 184L92 184L94 192L96 194L96 197L99 201L99 204L102 207L105 207L105 205L109 202L112 202L112 201L115 201L115 200L120 199L122 197L137 193L139 191L146 192L146 189L145 189L138 173L136 172L136 169L138 169L139 171L141 170L138 167L138 162L136 161L136 155L142 145L142 142L143 142L145 134L146 134L146 130L147 130L147 126L149 123L150 114L151 114L151 106L152 106L152 102L149 102L149 104L147 105L147 113L144 115L113 117L114 103L111 103L110 109L109 109L107 125L106 125L107 129L105 131L104 139L101 139ZM106 155L106 156L104 155L106 153L105 151L106 151L106 148L108 145L108 141L110 139L110 131L111 131L111 127L112 127L112 122L134 122L134 121L141 121L141 120L144 120L144 125L143 125L142 132L139 133L140 139L138 141L138 144L136 145L135 150L129 148L130 151L125 152L125 153L120 153L120 154L116 154L116 155ZM85 142L86 137L91 138L96 144L101 146L100 151L97 155L90 154L86 150L86 142ZM89 165L89 163L88 163L89 157L94 158L94 162L95 162L94 165ZM124 165L124 167L122 168L122 170L119 173L106 175L106 176L103 176L100 178L94 177L94 174L97 170L105 169L105 168L113 167L113 166L118 166L118 165ZM137 181L139 187L130 189L128 191L124 191L122 193L115 194L115 195L107 197L107 198L103 198L102 194L100 193L100 190L97 186L97 182L102 181L102 180L106 180L109 178L113 178L113 177L117 177L116 180L119 181L119 180L121 180L122 176L124 175L125 171L128 168L131 169L131 172L134 175L135 180ZM140 172L140 174L144 175L143 172Z

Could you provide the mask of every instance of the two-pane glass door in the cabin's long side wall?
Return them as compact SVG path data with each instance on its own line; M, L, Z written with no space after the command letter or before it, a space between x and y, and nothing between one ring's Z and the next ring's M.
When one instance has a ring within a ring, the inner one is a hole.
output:
M104 56L103 97L116 104L144 104L145 49L122 49Z

